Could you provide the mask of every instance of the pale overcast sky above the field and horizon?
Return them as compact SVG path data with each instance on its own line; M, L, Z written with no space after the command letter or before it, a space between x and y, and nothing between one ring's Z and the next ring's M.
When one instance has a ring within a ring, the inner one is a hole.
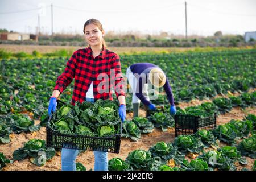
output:
M106 32L166 31L185 34L185 1L181 0L0 0L0 28L35 33L79 33L86 20L100 20ZM40 8L42 7L42 8ZM255 0L187 0L188 35L244 34L256 31Z

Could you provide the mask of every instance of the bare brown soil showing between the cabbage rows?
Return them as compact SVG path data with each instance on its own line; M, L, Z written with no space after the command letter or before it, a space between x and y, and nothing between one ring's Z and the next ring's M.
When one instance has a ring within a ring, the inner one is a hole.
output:
M243 119L247 114L255 114L255 107L248 107L245 110L241 110L240 108L234 108L230 113L226 113L223 115L219 115L217 118L217 125L224 124L230 121L230 119ZM141 116L146 115L144 110L141 110ZM127 113L128 118L133 116L132 113ZM37 123L39 121L36 121ZM0 148L0 152L3 152L7 158L11 159L14 150L17 150L20 147L23 147L25 142L32 138L36 139L46 139L46 128L42 127L39 131L33 133L20 133L20 134L11 134L10 135L11 142L8 144L2 144ZM160 129L154 129L154 131L150 134L142 134L141 139L137 142L133 142L129 138L121 139L121 150L119 154L108 154L108 159L112 159L115 157L119 157L123 160L126 159L129 152L141 148L144 150L148 150L152 145L157 142L172 142L175 138L174 128L168 129L167 132L163 132ZM220 142L220 146L224 145L224 143ZM191 156L186 156L186 159L191 160ZM247 158L248 164L244 167L251 169L254 164L254 159ZM84 153L79 154L77 156L77 162L84 164L86 169L93 169L94 167L94 155L93 151L85 151ZM238 169L242 169L243 166L237 164ZM8 164L7 167L3 168L3 170L61 170L61 156L60 152L49 160L46 165L42 167L38 167L35 164L32 164L29 159L25 159L22 161L15 161L13 164Z

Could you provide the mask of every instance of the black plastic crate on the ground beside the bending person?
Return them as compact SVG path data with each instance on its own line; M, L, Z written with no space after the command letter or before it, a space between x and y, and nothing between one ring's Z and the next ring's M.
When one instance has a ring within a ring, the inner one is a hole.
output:
M217 114L200 118L194 115L176 114L175 137L178 135L194 134L200 129L215 129Z

